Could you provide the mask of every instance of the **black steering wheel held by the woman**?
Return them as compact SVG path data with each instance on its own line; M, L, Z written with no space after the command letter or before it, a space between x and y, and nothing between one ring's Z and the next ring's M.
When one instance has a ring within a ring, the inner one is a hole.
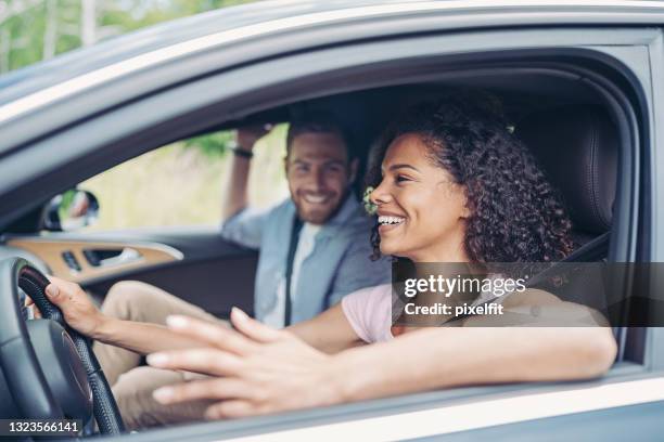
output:
M119 434L125 426L90 341L46 297L49 284L24 259L0 262L0 362L20 417L85 424L93 414L101 433ZM43 320L25 321L18 287Z

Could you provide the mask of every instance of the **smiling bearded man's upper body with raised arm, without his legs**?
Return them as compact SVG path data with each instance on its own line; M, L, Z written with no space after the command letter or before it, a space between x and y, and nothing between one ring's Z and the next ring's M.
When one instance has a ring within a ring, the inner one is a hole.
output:
M390 263L372 262L372 221L352 193L358 159L331 115L292 121L285 171L291 198L268 211L247 207L246 183L263 128L241 129L221 234L258 248L256 317L282 327L316 316L344 295L390 282Z

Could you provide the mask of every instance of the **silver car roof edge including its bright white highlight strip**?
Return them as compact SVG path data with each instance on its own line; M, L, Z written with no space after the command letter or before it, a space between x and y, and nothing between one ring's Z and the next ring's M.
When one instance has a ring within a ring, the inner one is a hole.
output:
M163 23L0 76L0 123L80 92L104 76L117 78L141 68L154 67L164 60L174 61L178 56L209 49L215 44L257 38L283 29L310 28L321 24L376 16L422 14L429 11L445 14L489 11L503 17L511 14L513 25L520 25L523 23L518 18L519 12L539 14L545 6L551 11L566 8L567 13L578 11L605 15L611 12L610 23L621 20L628 11L664 12L664 4L651 0L261 1ZM661 18L660 16L657 20ZM574 21L571 18L572 22ZM92 83L86 83L88 74L89 77L95 77ZM68 87L64 88L64 84Z

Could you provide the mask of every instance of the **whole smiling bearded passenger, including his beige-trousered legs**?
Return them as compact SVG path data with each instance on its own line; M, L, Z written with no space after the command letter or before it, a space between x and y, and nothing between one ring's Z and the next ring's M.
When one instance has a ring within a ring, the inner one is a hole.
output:
M292 121L285 171L291 197L272 209L247 206L247 179L254 144L263 127L238 131L230 188L222 204L224 238L259 250L254 290L255 316L273 327L315 317L342 297L390 282L387 260L371 261L372 220L352 184L358 159L345 132L325 114ZM124 321L164 325L170 314L220 321L149 284L114 285L102 312ZM203 416L205 404L162 405L155 388L189 379L180 372L140 366L138 353L95 342L94 352L113 387L129 429L176 424Z

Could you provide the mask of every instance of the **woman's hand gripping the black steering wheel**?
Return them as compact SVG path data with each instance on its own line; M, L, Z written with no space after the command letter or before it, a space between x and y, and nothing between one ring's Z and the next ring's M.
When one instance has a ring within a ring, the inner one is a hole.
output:
M49 276L46 295L49 300L60 308L67 324L78 333L95 338L97 333L105 323L106 317L94 307L88 295L78 284ZM26 306L33 306L30 298L26 298ZM33 309L36 317L41 317L37 309Z

